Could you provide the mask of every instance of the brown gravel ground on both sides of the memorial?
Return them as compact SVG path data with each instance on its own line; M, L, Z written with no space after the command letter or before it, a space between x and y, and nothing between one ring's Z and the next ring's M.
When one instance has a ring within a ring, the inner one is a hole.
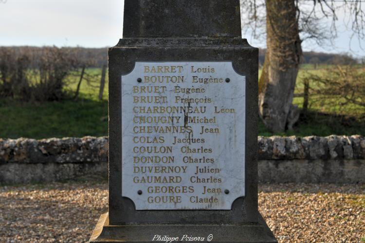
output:
M0 242L85 242L105 181L0 187ZM365 242L365 185L264 184L259 210L280 242Z

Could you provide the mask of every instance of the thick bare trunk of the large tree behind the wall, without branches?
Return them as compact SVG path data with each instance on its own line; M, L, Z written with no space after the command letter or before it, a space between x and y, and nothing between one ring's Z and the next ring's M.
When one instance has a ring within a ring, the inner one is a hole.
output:
M291 129L299 117L292 105L302 56L294 0L266 0L267 51L259 80L259 114L272 132Z

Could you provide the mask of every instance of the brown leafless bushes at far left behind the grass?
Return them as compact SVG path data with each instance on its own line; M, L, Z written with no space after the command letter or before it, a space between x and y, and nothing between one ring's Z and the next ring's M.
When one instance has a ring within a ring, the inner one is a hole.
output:
M68 74L77 69L70 49L0 48L0 94L22 101L59 101Z

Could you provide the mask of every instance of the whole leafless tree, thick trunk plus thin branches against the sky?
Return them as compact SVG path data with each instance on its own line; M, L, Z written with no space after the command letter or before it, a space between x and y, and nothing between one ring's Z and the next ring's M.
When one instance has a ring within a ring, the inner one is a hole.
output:
M323 45L337 36L343 9L352 38L365 38L364 0L241 0L243 30L265 38L267 52L259 79L259 114L267 128L282 132L299 118L292 105L302 61L302 42Z

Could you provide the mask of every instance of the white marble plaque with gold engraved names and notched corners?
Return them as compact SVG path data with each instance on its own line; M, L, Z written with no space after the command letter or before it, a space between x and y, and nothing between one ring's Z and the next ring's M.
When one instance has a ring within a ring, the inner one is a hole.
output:
M122 82L122 196L136 210L245 195L245 76L231 62L136 62Z

